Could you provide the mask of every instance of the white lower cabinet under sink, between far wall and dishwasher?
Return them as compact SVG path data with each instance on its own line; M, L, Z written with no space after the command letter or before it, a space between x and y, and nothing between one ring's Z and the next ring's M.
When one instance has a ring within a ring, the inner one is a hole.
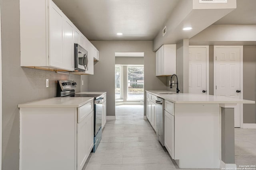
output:
M156 96L148 94L148 92L146 96L146 117L148 118L148 121L156 131L156 104L154 103L153 100L151 100L151 98L154 98Z

